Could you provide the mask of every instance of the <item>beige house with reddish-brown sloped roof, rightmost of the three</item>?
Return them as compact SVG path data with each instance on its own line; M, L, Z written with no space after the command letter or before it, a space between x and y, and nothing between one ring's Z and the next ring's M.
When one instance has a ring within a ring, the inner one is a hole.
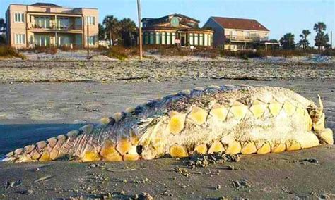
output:
M214 30L213 45L228 51L257 49L274 43L269 42L269 33L257 20L211 17L204 28Z

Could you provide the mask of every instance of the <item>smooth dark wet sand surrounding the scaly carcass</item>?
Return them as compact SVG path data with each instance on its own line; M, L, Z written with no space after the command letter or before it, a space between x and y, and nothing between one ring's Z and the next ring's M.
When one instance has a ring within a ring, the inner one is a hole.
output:
M206 85L248 84L288 87L317 102L322 96L327 127L335 130L335 80L187 80L174 82L24 83L0 85L0 154L26 144L95 123L99 118L182 89ZM182 161L105 163L0 163L0 199L45 199L112 196L141 192L164 199L221 196L229 198L335 198L335 148L242 156L240 162L189 169ZM304 159L312 159L303 161ZM315 160L313 160L315 159ZM228 165L233 165L231 170ZM39 168L39 170L36 170ZM187 170L180 174L175 168ZM229 170L230 169L230 170ZM187 175L189 174L189 175ZM52 176L35 182L40 177ZM148 180L146 180L148 179ZM243 181L243 180L246 181ZM242 183L238 185L234 181ZM246 184L244 185L243 183ZM17 187L15 187L18 185ZM218 185L220 185L218 187ZM244 185L244 186L243 186ZM217 189L216 189L217 187ZM31 190L31 191L30 191ZM32 194L28 195L30 192ZM110 194L109 194L110 193Z

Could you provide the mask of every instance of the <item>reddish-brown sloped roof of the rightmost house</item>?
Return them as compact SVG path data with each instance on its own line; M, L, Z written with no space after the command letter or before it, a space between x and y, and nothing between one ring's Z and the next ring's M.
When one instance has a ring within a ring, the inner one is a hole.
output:
M240 29L240 30L261 30L270 31L264 25L261 25L257 20L252 19L241 19L241 18L221 18L211 17L216 23L224 28L228 29Z

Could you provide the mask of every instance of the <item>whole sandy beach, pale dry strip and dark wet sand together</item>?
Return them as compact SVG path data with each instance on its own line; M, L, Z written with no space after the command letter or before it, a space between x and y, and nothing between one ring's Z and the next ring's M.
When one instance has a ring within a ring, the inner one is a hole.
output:
M69 66L62 62L0 62L0 155L85 123L97 123L104 116L149 99L206 85L288 87L313 101L320 94L327 127L335 130L331 63L162 62L84 62L82 67L76 62ZM40 73L48 69L45 76ZM65 76L66 80L59 82L62 74L58 73L69 70L84 75ZM98 73L105 74L107 80ZM134 74L137 79L131 78ZM144 196L142 192L157 199L334 199L334 155L335 148L329 145L242 156L239 162L215 163L206 168L188 168L184 160L175 158L116 163L0 163L0 182L4 183L0 199L135 199Z

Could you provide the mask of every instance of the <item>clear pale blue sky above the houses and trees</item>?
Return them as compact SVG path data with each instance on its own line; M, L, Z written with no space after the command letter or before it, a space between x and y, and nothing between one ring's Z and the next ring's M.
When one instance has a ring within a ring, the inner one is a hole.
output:
M131 18L137 24L136 0L0 0L0 18L5 17L9 4L54 3L66 7L98 8L99 20L105 15L119 19ZM319 21L333 31L335 46L335 0L141 0L142 18L160 18L180 13L200 20L202 27L211 16L251 18L267 27L269 39L280 39L292 32L298 42L302 30L312 32L309 40L314 44L313 25Z

